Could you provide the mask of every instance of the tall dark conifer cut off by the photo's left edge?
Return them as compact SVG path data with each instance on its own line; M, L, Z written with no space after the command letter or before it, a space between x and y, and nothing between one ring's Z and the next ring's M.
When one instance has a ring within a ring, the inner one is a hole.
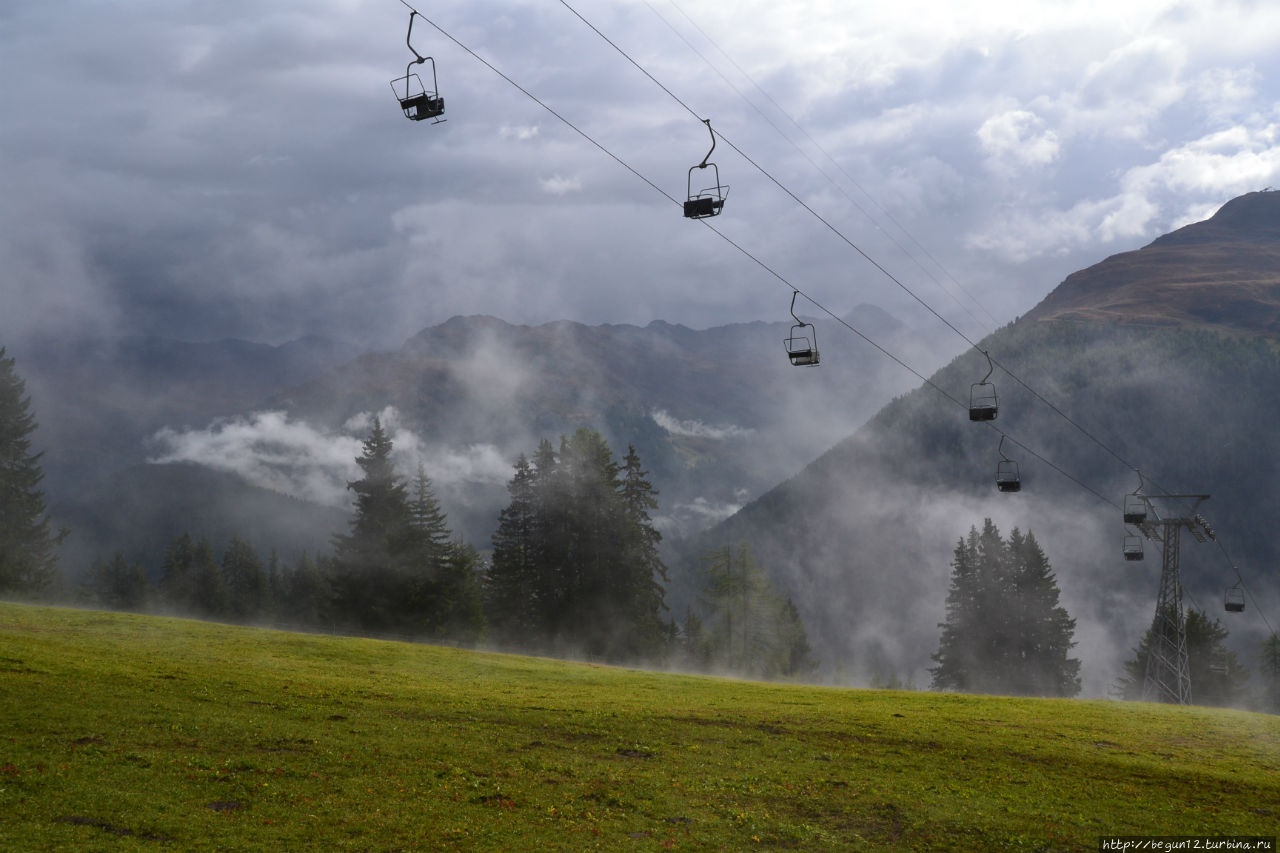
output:
M27 383L0 347L0 596L47 592L58 579L58 546L40 488L44 453L31 452L36 430Z

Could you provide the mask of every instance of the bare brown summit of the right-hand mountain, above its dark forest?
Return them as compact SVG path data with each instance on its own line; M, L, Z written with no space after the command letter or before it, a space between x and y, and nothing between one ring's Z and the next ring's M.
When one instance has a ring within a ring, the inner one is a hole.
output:
M1210 219L1071 273L1027 319L1280 337L1280 192L1233 199Z

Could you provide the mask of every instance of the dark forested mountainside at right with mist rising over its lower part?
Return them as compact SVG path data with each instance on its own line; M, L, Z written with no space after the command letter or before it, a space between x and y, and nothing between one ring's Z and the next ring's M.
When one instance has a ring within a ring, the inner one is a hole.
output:
M1243 206L1226 205L1226 215L1203 231L1192 225L1176 241L1153 246L1194 245L1201 259L1216 264L1201 275L1239 280L1249 272L1233 265L1238 255L1230 248L1238 241L1215 242L1215 234L1242 229L1248 241L1280 247L1280 193L1258 195ZM1249 215L1242 219L1242 210ZM1138 275L1147 251L1126 260L1128 273ZM1252 269L1252 255L1239 257ZM1102 304L1107 282L1135 287L1129 279L1108 279L1114 266L1103 261L1060 291L1085 279L1101 282L1091 298ZM1160 263L1147 269L1151 293L1158 295L1164 272ZM1260 315L1267 293L1260 297ZM1169 304L1151 324L1048 310L1065 298L1055 291L1043 310L979 342L1020 380L1001 370L992 375L1000 412L991 424L1015 439L1006 442L1005 453L1020 465L1020 492L996 491L1000 434L968 418L970 386L988 369L983 355L970 350L931 377L934 387L892 401L799 474L695 538L673 565L691 575L707 547L745 539L792 592L828 672L918 676L937 646L956 537L984 517L1005 529L1034 529L1044 551L1059 555L1062 603L1079 622L1075 653L1084 692L1101 695L1120 674L1125 649L1149 625L1160 578L1158 552L1142 562L1121 558L1119 506L1139 478L1119 456L1142 469L1148 491L1212 496L1202 511L1275 622L1280 543L1270 535L1270 510L1280 475L1276 338L1252 321L1235 324L1234 316L1253 316L1239 306L1181 323L1180 313L1194 304L1189 296ZM1153 296L1151 306L1160 305ZM824 360L823 369L838 368ZM1183 575L1190 607L1222 612L1234 575L1215 546L1184 544ZM1265 637L1256 610L1251 605L1229 621L1242 658L1252 658Z

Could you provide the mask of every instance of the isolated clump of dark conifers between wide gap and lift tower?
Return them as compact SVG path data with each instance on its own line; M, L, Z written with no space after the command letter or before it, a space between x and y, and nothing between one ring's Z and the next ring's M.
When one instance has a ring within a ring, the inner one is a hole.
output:
M1005 542L991 521L970 528L951 561L946 621L932 656L936 690L1075 695L1080 662L1069 657L1075 620L1059 606L1044 552L1016 528Z

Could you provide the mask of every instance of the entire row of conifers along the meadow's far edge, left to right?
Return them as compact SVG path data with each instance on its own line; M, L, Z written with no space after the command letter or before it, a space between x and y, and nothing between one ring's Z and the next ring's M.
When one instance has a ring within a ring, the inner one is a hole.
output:
M59 585L65 530L46 511L31 401L0 347L0 596L47 597ZM456 538L420 465L406 478L376 419L355 461L348 530L332 553L285 565L238 538L219 555L207 538L168 543L159 580L122 553L97 558L81 601L204 619L356 631L607 661L664 662L748 676L814 670L804 622L746 543L704 555L682 619L666 603L667 566L653 521L658 491L634 447L616 460L590 429L541 441L521 456L498 516L492 552ZM1075 621L1059 603L1052 567L1032 533L1004 538L989 519L956 544L946 620L932 656L933 689L1075 695ZM1116 684L1140 695L1149 631ZM1198 703L1233 704L1247 671L1225 646L1226 629L1187 615ZM1260 654L1262 706L1280 710L1280 635Z

